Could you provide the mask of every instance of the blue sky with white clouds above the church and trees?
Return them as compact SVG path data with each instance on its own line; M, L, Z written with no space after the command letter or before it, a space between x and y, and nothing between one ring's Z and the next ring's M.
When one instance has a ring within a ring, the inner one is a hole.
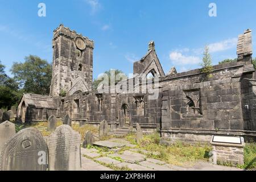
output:
M40 2L46 17L38 16ZM217 17L208 15L211 2ZM51 63L53 30L63 23L94 40L94 78L110 68L133 73L133 61L146 54L150 40L165 73L172 66L183 72L200 67L206 44L213 64L235 58L237 36L247 28L255 50L255 7L255 0L1 0L0 60L10 76L13 62L30 54Z

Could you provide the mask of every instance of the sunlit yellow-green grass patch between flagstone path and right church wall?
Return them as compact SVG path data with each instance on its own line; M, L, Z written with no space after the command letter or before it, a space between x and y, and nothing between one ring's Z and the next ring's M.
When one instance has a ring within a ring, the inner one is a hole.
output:
M126 136L126 140L135 143L135 135L130 134ZM144 135L139 148L147 151L156 152L156 154L147 154L148 157L163 160L164 162L174 164L177 166L184 166L196 162L196 160L208 160L209 152L212 148L209 145L194 143L189 144L185 142L175 142L171 146L164 146L160 144L159 133L151 135Z

